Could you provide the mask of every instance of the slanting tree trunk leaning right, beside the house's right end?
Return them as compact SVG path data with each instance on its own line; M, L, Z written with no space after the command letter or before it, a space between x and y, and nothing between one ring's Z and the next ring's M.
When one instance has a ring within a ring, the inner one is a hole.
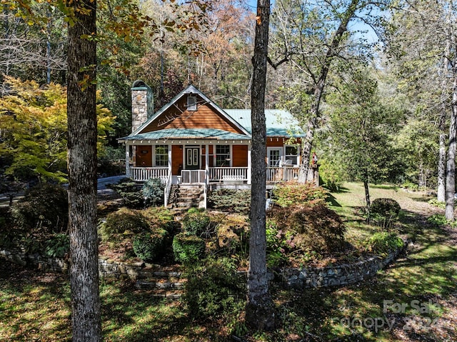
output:
M330 70L331 62L336 56L338 56L338 46L340 46L341 41L343 40L344 33L348 30L348 23L356 13L359 2L360 0L352 0L346 11L341 14L341 22L338 29L336 29L330 46L328 46L326 56L323 59L323 64L321 66L321 72L318 75L318 79L316 79L316 84L314 85L314 99L309 113L311 119L308 121L306 137L303 140L301 150L302 164L300 174L298 176L298 181L301 183L304 183L308 176L309 159L311 156L311 149L313 147L314 131L318 128L318 119L321 117L319 108L321 106L323 90L326 86L328 71Z

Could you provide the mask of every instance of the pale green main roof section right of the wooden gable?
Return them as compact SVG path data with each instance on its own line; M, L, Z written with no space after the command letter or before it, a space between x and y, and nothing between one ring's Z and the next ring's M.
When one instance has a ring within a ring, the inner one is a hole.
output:
M224 109L224 111L252 134L251 109ZM296 119L288 111L265 109L266 136L305 136Z

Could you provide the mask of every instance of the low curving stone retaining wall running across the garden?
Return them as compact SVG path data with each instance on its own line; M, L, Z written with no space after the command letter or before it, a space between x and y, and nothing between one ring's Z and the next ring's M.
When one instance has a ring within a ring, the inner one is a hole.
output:
M406 243L405 243L406 246ZM372 256L356 263L348 263L322 268L287 268L281 271L280 278L291 288L311 288L344 286L372 277L377 271L391 263L403 248L391 251L384 258ZM21 250L0 249L0 257L19 263L32 265L43 271L66 272L69 262L61 258L47 258L39 254L26 254ZM183 287L180 268L166 268L149 263L122 263L106 257L99 258L100 278L132 279L139 288L155 288L161 291L180 290Z

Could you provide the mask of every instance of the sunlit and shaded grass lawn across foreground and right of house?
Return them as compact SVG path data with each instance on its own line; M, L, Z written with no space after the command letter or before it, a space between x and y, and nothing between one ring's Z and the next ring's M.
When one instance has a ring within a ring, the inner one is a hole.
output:
M104 341L457 341L456 228L427 221L441 211L423 193L373 186L371 196L400 203L396 228L411 239L408 253L353 286L304 291L273 286L282 323L277 331L248 331L241 310L196 321L180 301L155 298L131 283L104 281ZM331 208L346 221L351 243L376 230L358 216L363 198L359 183L331 193ZM0 341L71 341L69 308L65 276L0 260Z

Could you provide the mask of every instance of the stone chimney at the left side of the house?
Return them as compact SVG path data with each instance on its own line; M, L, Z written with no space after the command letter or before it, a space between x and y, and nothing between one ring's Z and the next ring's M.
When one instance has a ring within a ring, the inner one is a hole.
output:
M152 89L144 81L134 81L131 87L131 131L136 131L154 114Z

